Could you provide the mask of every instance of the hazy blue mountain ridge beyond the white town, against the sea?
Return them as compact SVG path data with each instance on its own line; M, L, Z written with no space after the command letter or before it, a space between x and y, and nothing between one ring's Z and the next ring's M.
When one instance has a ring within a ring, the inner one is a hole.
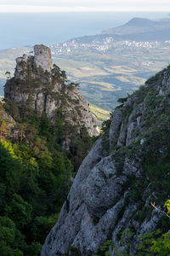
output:
M112 36L116 40L129 39L136 41L165 41L170 39L169 35L170 19L150 20L134 17L122 26L106 29L96 35L73 39L77 40L77 42L82 42L84 40L87 43L92 42L94 39L102 39L106 36Z

